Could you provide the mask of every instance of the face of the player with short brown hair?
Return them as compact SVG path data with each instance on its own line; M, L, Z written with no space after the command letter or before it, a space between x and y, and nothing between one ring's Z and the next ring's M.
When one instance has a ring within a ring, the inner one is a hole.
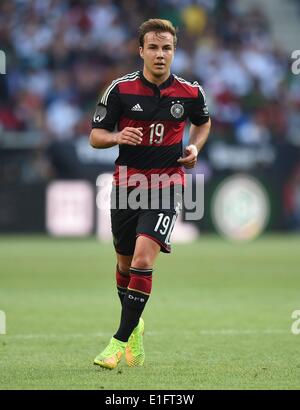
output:
M140 56L144 60L144 74L153 79L167 79L174 58L174 38L171 33L150 31L144 36Z

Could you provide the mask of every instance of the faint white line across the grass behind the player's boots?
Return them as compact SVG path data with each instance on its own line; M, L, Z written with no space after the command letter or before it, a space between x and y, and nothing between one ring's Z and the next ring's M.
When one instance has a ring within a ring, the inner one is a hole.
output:
M198 330L198 331L173 331L168 332L163 331L149 331L145 332L149 336L160 336L168 333L169 335L180 334L180 335L193 335L193 336L231 336L231 335L272 335L272 334L290 334L289 329L218 329L218 330ZM70 333L70 334L53 334L53 333L26 333L26 334L6 334L3 335L10 339L79 339L83 337L94 338L94 337L107 337L111 336L110 332L98 332L98 333ZM0 339L1 340L1 339Z

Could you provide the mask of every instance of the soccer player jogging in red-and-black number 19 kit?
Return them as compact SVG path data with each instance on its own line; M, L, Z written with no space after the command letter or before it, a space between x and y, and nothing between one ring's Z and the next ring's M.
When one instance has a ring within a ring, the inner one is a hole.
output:
M176 42L176 29L170 21L145 21L139 28L143 70L113 81L96 107L90 144L101 149L119 146L112 192L123 190L129 196L130 179L142 175L141 189L158 188L161 192L169 187L173 198L174 187L184 185L182 167L195 166L207 140L210 118L202 88L170 71ZM191 122L190 139L183 150L187 120ZM170 177L172 184L164 179L153 182L153 176L162 174ZM119 328L94 364L113 369L125 355L129 366L143 365L141 314L151 293L154 262L160 251L171 251L170 235L180 207L178 200L159 209L123 209L118 203L111 207L122 312Z

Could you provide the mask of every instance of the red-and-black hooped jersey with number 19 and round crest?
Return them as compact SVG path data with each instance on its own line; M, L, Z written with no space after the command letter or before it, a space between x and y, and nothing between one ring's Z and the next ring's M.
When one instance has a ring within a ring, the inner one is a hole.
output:
M190 83L171 74L157 86L141 71L113 81L97 105L92 127L108 131L143 128L140 145L119 146L114 184L127 186L128 178L136 174L143 174L151 187L154 174L175 176L172 183L184 184L183 167L177 160L182 156L188 120L194 125L209 120L205 95L197 82ZM120 173L121 166L127 167L125 178Z

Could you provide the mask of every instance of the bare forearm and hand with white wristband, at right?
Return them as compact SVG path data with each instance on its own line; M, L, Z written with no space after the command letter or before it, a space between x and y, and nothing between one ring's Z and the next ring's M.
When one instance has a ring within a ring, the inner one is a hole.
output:
M184 149L184 158L179 158L177 161L185 168L194 168L197 163L197 157L204 144L207 141L211 127L211 120L201 125L191 124L189 145Z

